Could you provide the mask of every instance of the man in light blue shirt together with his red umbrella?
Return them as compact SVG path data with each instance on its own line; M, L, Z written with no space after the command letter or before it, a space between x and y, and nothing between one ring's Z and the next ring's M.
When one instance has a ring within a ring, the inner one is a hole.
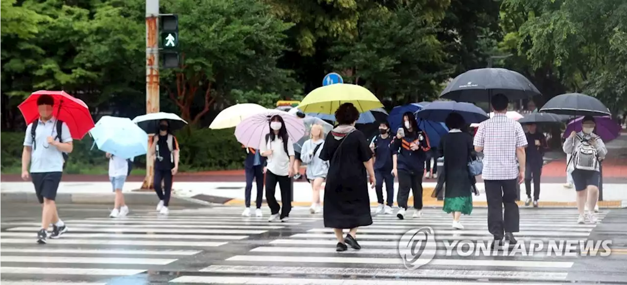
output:
M37 91L19 105L28 124L22 152L22 179L31 177L42 204L37 242L56 239L68 231L56 209L56 191L61 182L65 153L73 150L73 138L81 139L93 128L87 105L63 91ZM30 168L29 168L30 165ZM53 231L48 236L48 227Z

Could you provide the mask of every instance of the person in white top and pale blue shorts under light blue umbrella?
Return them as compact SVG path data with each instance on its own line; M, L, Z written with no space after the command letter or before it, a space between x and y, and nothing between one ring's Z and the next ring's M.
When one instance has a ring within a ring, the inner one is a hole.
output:
M122 187L129 174L129 162L111 153L107 153L107 158L109 158L109 180L115 192L115 203L109 217L124 217L129 214L129 207L124 202L124 194L122 194Z

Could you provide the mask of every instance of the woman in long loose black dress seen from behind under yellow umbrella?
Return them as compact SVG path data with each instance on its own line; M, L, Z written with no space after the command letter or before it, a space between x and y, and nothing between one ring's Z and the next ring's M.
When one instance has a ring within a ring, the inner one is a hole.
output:
M355 128L359 111L352 103L344 103L335 111L339 123L324 142L320 159L329 161L327 185L324 187L324 226L334 229L336 251L345 251L348 244L361 249L355 238L357 227L372 224L368 178L376 184L372 152L366 136ZM344 238L342 229L350 229Z

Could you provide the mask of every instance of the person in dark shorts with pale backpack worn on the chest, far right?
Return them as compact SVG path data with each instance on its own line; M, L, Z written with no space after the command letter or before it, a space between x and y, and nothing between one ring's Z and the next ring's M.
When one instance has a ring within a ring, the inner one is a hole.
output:
M582 132L572 132L564 142L564 152L572 154L567 164L567 172L572 174L572 180L577 191L577 223L583 224L586 220L591 224L597 222L594 211L599 199L599 163L608 153L601 137L593 133L596 123L594 118L586 116L582 120ZM587 204L587 205L586 205Z

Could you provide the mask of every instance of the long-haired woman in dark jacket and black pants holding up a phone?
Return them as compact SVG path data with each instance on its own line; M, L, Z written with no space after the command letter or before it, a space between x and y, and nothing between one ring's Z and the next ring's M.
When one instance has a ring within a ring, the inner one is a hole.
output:
M431 145L426 133L418 128L413 113L403 114L403 127L398 129L392 145L392 173L398 178L399 184L396 197L399 210L396 217L405 219L409 189L412 190L416 209L413 217L422 217L424 160Z

